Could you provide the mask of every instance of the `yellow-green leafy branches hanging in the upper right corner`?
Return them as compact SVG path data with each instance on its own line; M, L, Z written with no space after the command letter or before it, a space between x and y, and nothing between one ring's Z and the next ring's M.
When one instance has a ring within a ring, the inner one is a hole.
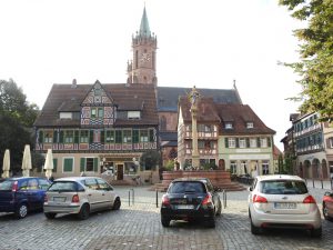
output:
M316 111L322 121L333 119L333 1L280 0L291 16L306 22L294 34L301 41L300 62L284 63L299 73L302 112Z

